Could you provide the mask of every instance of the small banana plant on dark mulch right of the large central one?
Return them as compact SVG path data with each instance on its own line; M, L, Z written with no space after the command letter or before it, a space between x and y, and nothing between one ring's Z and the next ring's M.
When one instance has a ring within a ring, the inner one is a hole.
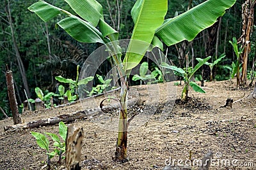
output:
M184 69L176 67L176 66L169 66L168 64L166 64L165 62L161 64L162 67L165 67L167 69L172 69L174 72L179 73L185 81L185 85L184 88L182 90L182 94L181 94L181 99L182 101L188 101L188 87L191 86L193 88L193 90L195 90L195 92L201 92L201 93L205 93L204 89L202 89L200 86L198 86L194 81L191 81L191 78L193 77L193 74L196 73L196 71L205 64L205 62L207 62L207 60L211 59L211 56L199 60L198 64L196 64L196 66L191 69L191 71L189 71L189 73L186 73L186 71L184 71Z

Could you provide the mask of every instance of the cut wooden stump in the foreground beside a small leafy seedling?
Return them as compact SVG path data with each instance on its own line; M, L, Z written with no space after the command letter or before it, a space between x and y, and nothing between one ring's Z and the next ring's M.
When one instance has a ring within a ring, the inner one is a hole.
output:
M66 169L81 170L81 148L83 146L83 129L75 125L68 126L66 138Z

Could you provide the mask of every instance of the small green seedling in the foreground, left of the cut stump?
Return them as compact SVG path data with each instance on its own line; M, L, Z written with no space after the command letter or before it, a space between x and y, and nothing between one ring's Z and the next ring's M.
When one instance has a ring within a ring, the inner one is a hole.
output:
M67 136L67 126L63 123L59 123L59 133L60 137L63 139L64 142L61 142L60 138L53 133L50 132L45 132L45 134L41 134L39 132L31 132L31 135L36 138L36 143L40 148L46 150L47 154L47 166L51 165L51 159L55 156L59 156L58 162L61 162L61 159L63 159L62 155L65 152L65 141L66 141L66 136ZM49 140L46 137L46 135L51 136L52 140L54 141L54 151L50 152L49 150Z

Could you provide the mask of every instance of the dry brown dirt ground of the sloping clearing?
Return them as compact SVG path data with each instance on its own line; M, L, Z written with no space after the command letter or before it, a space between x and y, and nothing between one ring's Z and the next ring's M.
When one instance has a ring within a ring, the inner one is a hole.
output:
M256 100L248 97L253 89L236 89L235 81L205 82L206 94L190 89L189 102L182 103L175 100L182 86L174 86L173 82L167 86L131 88L130 98L138 101L129 108L129 115L139 115L128 132L128 162L112 160L117 138L112 118L118 115L117 110L106 113L108 117L89 115L72 122L84 131L82 169L163 169L178 160L198 169L196 160L201 160L208 150L214 155L210 169L256 169ZM221 108L228 97L235 102L232 108ZM102 99L95 97L97 104ZM22 121L89 110L95 108L92 101L85 100L83 108L78 102L54 110L28 111L21 115ZM12 118L0 121L0 169L47 169L43 168L45 151L36 144L31 131L57 134L58 125L4 131L4 126L12 124ZM52 159L51 169L65 169L64 160L61 164L56 161Z

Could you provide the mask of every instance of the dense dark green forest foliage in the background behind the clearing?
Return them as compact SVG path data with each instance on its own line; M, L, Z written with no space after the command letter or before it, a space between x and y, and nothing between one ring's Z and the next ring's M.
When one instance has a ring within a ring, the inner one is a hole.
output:
M77 65L82 66L88 55L90 55L95 48L99 47L99 44L79 43L68 36L62 29L58 28L58 30L56 30L55 23L59 20L58 18L49 20L49 22L45 24L40 18L27 9L28 6L36 1L37 0L10 1L15 40L26 70L32 99L36 98L35 87L40 87L43 91L48 90L49 92L58 93L58 88L56 87L58 81L54 79L56 76L76 80ZM52 3L52 1L47 2ZM131 8L136 1L124 0L122 1L122 8L119 9L116 7L116 1L99 0L98 2L104 6L103 13L105 14L105 21L108 22L109 25L112 25L116 31L120 32L119 39L131 38L132 28L134 26L131 17ZM121 6L121 1L118 2ZM191 4L191 7L202 2L203 0L195 0ZM188 3L188 0L168 1L168 8L172 10L168 10L166 18L187 11ZM243 1L237 1L232 8L226 11L221 20L220 45L216 56L220 56L221 53L225 52L226 57L221 64L230 67L232 67L232 62L236 62L237 57L233 51L233 46L230 45L228 41L232 40L233 37L239 38L241 36L241 3L243 3ZM72 11L65 1L54 1L53 4L61 6L61 8L65 10ZM118 22L118 13L116 12L118 10L120 10L120 22ZM8 21L7 0L4 0L4 2L0 4L0 11L0 66L2 73L0 74L0 85L2 87L0 92L0 106L8 115L10 115L6 80L4 76L6 64L8 64L8 67L13 71L17 102L19 105L26 99L26 96L24 94L22 78L20 76L17 58L13 48L13 39L10 31L10 23ZM47 44L47 34L49 34L50 50ZM205 57L206 37L207 31L203 31L193 40L195 57ZM252 42L255 42L255 39L256 35L255 32L253 32ZM177 45L177 47L179 46L180 45ZM166 50L166 46L164 46L164 50ZM186 49L186 53L188 51L189 59L191 59L192 52L190 46ZM252 66L254 55L255 43L252 43L252 52L250 53L248 62L249 68ZM179 63L178 56L179 54L175 46L168 47L168 59L172 60L177 65ZM144 61L145 60L142 60L141 63ZM210 62L213 63L214 59ZM154 71L156 65L149 62L148 67L151 71ZM230 78L230 71L226 68L227 67L219 66L218 69L214 71L217 80ZM106 61L102 64L97 73L104 75L109 69L111 69L111 63ZM95 80L97 80L97 78L95 78ZM94 81L93 83L96 87L97 81ZM133 82L131 81L131 83ZM65 88L68 89L68 86ZM2 113L0 113L0 119L1 118L3 118Z

